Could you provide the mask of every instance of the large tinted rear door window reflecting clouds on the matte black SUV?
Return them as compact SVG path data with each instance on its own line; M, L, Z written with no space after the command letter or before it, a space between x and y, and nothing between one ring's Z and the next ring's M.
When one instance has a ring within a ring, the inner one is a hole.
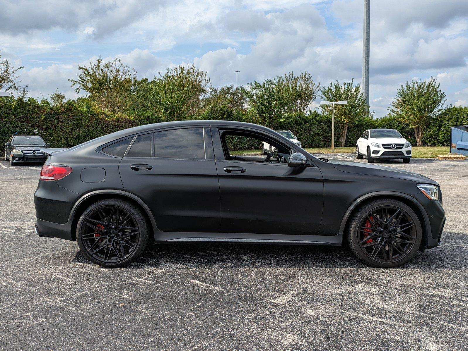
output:
M205 158L203 128L155 132L154 156L160 158Z

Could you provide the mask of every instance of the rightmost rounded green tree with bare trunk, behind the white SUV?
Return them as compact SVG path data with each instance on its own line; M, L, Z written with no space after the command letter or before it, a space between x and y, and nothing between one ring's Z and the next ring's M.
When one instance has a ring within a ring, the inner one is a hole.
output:
M390 104L390 114L414 129L417 146L423 146L424 130L445 102L445 93L439 87L440 83L432 77L424 81L407 81L405 86L400 86L395 101Z

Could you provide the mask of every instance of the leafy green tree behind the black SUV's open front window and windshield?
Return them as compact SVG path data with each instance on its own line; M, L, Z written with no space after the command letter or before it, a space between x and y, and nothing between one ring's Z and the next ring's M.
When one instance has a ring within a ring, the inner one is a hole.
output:
M254 122L274 129L284 119L288 106L288 90L282 77L267 79L263 83L249 83L242 89Z

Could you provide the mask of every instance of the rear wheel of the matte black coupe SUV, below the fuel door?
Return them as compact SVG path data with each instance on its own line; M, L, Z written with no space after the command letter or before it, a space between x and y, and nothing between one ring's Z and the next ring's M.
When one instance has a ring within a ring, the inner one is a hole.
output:
M129 264L148 243L145 217L139 208L120 199L101 200L89 206L78 221L76 233L81 252L103 267Z

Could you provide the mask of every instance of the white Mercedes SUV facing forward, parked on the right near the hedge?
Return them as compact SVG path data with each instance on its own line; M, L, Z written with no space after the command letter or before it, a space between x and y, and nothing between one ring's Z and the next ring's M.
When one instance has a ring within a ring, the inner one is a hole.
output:
M395 129L367 129L356 143L356 158L367 157L368 163L375 158L411 159L411 143Z

